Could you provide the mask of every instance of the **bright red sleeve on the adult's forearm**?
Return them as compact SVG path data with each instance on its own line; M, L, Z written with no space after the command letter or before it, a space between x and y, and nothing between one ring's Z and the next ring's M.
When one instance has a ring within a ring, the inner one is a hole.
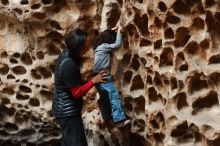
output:
M71 93L74 98L80 98L84 96L89 89L93 87L94 83L92 81L88 81L84 85L71 87Z

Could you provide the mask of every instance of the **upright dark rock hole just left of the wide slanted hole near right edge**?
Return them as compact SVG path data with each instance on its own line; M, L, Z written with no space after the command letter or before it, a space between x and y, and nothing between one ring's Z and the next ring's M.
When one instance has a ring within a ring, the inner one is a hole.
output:
M187 100L186 100L186 93L181 92L178 93L174 99L176 100L176 107L178 110L183 109L184 107L188 106Z

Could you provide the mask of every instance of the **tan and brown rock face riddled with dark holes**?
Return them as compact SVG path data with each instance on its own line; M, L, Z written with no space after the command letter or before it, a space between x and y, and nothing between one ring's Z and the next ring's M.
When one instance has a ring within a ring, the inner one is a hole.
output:
M0 145L57 146L54 68L66 31L123 26L113 76L131 133L101 124L92 89L89 145L220 145L219 0L0 0ZM93 53L82 73L91 77Z

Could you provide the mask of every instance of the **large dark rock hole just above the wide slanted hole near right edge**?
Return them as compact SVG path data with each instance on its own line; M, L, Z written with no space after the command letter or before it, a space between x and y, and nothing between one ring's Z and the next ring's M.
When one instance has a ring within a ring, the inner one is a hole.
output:
M208 83L205 79L203 79L204 77L203 73L195 73L193 76L188 77L190 78L188 85L189 93L192 94L196 91L208 88Z

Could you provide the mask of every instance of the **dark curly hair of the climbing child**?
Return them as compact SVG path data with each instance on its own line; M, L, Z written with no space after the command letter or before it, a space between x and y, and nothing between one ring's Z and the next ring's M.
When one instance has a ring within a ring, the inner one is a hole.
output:
M111 29L106 29L105 31L101 32L98 37L96 38L94 44L94 50L101 44L107 43L112 44L116 40L116 32Z

